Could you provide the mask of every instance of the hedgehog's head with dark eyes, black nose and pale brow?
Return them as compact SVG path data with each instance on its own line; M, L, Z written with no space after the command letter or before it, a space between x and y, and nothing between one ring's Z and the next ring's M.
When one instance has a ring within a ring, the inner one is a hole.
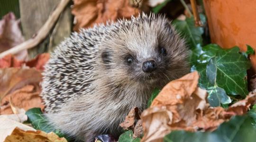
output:
M106 73L120 83L157 85L188 72L187 49L170 22L164 17L143 17L126 21L125 27L106 37L101 47Z

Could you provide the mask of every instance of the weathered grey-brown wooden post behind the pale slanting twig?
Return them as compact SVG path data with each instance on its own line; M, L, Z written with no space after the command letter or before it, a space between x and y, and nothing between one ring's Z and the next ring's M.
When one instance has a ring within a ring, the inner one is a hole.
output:
M19 0L20 18L25 39L31 38L44 25L60 0ZM37 47L28 50L29 58L38 53L52 52L72 30L71 8L67 6L52 32Z

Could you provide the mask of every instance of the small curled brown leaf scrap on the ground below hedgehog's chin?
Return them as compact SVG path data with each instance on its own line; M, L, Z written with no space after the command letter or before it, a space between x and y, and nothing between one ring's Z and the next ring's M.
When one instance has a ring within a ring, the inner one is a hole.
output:
M124 130L133 130L135 127L136 119L140 119L141 111L138 107L134 107L130 110L129 114L125 117L125 121L120 124Z

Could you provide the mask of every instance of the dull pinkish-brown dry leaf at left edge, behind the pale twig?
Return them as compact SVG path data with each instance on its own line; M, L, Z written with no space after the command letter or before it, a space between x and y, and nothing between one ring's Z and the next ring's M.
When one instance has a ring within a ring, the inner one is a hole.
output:
M24 38L19 28L20 21L10 12L0 20L0 53L9 48L24 42ZM19 60L27 58L27 50L23 50L15 55Z

